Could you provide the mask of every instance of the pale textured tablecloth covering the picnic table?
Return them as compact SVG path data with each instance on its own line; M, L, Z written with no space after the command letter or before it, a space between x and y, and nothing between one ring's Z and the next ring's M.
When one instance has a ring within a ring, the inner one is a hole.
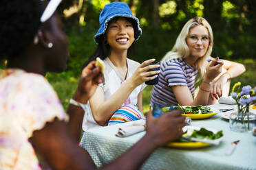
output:
M213 107L217 109L223 106ZM96 127L83 135L81 146L87 149L98 167L123 154L145 135L145 132L140 132L125 138L118 138L115 134L118 127L122 125L127 125L127 123ZM251 133L232 132L229 129L228 120L222 119L220 113L209 119L193 120L191 125L223 130L224 138L220 145L198 149L160 147L151 154L141 169L256 169L256 136ZM234 153L226 156L226 150L231 147L233 141L237 140L240 142Z

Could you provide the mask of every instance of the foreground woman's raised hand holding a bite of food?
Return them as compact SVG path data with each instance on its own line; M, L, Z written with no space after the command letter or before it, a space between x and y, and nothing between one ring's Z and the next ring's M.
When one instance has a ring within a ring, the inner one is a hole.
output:
M92 61L83 69L73 97L76 101L86 103L94 95L98 84L104 81L103 74L100 72L100 66L96 67L95 63L95 61Z

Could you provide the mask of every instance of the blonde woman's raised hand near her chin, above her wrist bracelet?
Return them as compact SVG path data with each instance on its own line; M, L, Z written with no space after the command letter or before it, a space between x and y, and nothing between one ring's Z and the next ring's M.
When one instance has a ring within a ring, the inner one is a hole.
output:
M220 59L218 57L215 58L206 68L206 75L204 75L204 77L207 80L213 81L215 77L217 77L220 73L222 73L222 66L224 62L217 62L217 60L220 60Z

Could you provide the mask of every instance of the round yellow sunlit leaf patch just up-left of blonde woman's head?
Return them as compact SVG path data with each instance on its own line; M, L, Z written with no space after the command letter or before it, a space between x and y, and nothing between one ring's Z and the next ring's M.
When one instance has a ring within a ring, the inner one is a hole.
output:
M174 14L176 12L177 4L175 1L167 1L166 3L162 3L159 7L159 15L161 17Z

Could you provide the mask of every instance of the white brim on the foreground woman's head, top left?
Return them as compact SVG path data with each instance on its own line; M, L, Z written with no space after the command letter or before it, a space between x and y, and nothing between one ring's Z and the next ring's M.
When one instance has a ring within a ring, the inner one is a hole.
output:
M41 0L44 1L44 0ZM43 11L43 14L40 18L41 23L44 23L45 21L47 21L47 19L50 19L50 17L52 16L52 14L54 14L54 12L56 11L56 8L58 7L58 5L61 3L62 0L51 0L45 10Z

